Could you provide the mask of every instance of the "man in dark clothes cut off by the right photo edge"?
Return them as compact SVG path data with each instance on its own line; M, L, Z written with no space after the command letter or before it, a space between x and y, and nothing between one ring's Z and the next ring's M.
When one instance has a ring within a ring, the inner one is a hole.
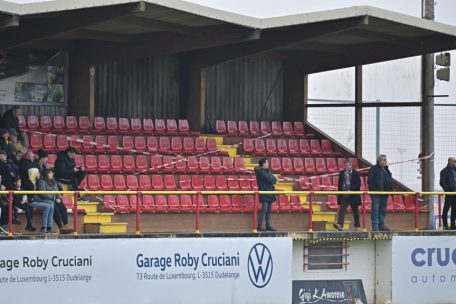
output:
M440 171L440 186L445 192L456 192L456 158L448 158L448 165ZM451 226L450 229L456 229L456 196L445 195L443 205L442 223L443 229L448 229L448 211L451 208Z

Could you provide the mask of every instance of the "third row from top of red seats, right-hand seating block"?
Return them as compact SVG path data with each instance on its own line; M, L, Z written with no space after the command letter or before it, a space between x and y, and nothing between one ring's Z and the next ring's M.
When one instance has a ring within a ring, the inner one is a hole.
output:
M351 158L353 168L359 169L358 159ZM336 173L344 169L345 158L322 158L317 157L315 161L313 158L306 157L304 159L299 157L272 157L270 159L269 168L273 173L281 174L327 174Z

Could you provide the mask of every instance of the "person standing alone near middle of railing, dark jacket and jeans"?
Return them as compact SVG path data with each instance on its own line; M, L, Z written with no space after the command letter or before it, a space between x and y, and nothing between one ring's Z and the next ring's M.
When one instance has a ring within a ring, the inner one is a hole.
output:
M260 159L259 166L255 168L259 191L275 191L275 183L277 179L269 172L269 162L266 158ZM272 203L276 200L274 194L260 194L260 202L262 204L261 212L258 217L258 231L276 231L271 227L271 209ZM263 217L266 220L266 229L263 229Z

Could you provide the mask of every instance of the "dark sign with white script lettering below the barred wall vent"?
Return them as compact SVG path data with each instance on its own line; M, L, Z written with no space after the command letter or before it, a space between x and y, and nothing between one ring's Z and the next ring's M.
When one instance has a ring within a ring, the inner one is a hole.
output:
M293 304L366 304L361 280L293 281Z

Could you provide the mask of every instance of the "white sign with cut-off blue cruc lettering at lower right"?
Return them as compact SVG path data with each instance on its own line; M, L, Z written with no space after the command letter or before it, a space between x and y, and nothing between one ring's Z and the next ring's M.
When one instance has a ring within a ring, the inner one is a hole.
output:
M393 238L393 303L456 302L456 238Z

